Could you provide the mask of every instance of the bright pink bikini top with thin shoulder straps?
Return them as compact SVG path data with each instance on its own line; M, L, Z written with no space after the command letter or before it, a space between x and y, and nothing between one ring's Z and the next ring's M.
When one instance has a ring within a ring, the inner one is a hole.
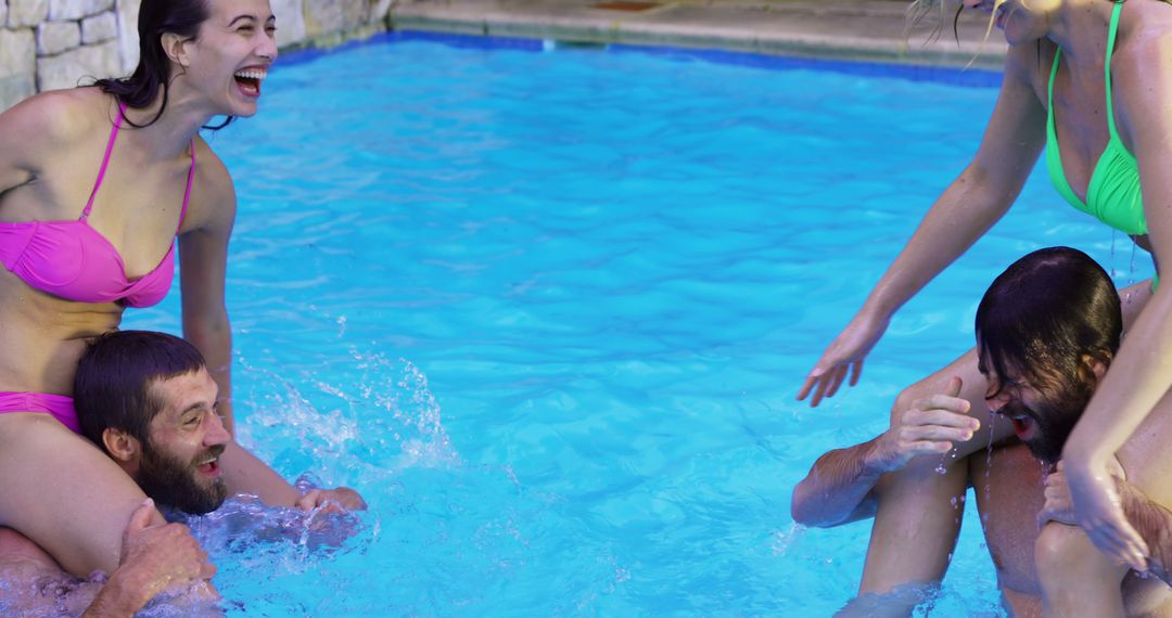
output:
M175 279L175 243L154 270L130 280L118 250L89 226L89 211L94 207L97 188L110 164L114 142L122 128L122 112L110 131L105 157L97 172L97 181L89 194L89 202L76 221L25 221L0 222L0 262L35 289L70 301L87 303L121 302L129 307L150 307L166 296ZM196 173L196 145L191 143L191 169L188 171L188 190L183 194L183 210L176 235L188 214L191 181Z

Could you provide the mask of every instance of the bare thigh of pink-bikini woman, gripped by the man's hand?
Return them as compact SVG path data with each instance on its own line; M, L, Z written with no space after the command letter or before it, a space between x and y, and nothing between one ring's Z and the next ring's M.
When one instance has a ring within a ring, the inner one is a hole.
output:
M0 523L75 576L114 572L145 497L122 468L47 414L0 414Z

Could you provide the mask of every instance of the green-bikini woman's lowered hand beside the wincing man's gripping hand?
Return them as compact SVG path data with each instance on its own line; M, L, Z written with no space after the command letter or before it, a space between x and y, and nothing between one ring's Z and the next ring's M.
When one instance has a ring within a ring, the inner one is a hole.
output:
M1068 458L1064 466L1075 521L1099 551L1137 571L1147 570L1147 543L1123 513L1108 465Z

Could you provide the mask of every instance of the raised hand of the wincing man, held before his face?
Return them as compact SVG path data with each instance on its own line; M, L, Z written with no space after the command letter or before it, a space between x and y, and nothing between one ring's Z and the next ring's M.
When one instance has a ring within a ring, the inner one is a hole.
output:
M872 469L902 469L918 455L952 451L955 442L973 439L981 421L968 416L969 403L958 397L961 379L948 380L945 392L918 399L900 414L899 420L874 442L868 453Z

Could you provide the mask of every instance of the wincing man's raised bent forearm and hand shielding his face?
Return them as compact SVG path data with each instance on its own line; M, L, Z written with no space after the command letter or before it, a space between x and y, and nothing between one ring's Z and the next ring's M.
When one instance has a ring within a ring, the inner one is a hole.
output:
M872 517L875 485L884 474L902 469L918 455L942 455L954 442L973 438L977 421L967 416L968 401L956 398L960 387L960 378L953 378L946 392L914 401L877 438L818 458L793 488L793 521L829 528Z

